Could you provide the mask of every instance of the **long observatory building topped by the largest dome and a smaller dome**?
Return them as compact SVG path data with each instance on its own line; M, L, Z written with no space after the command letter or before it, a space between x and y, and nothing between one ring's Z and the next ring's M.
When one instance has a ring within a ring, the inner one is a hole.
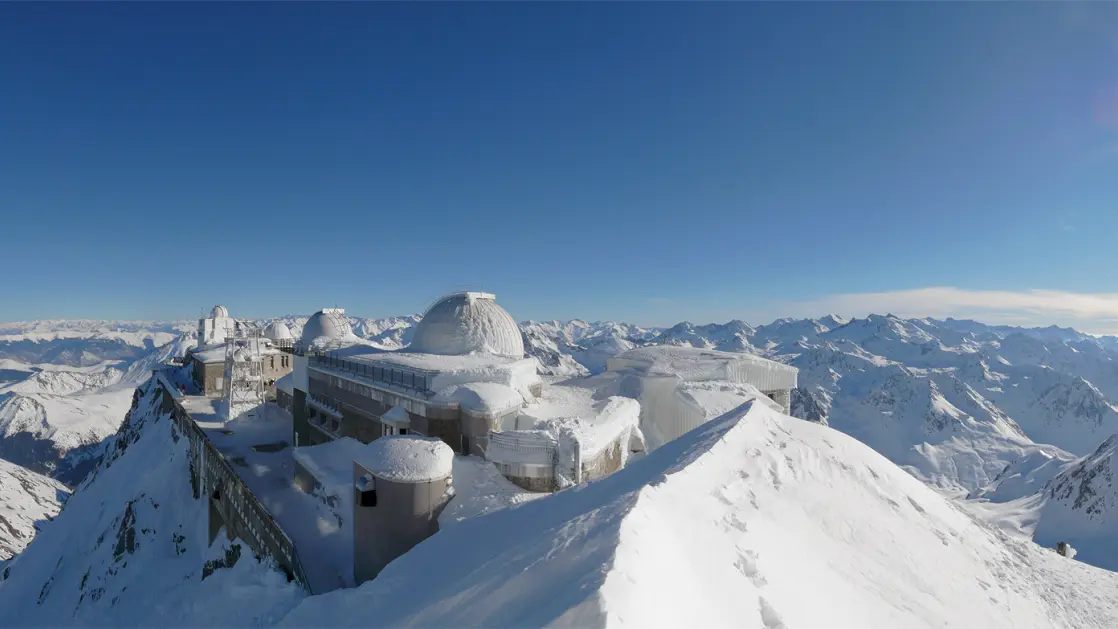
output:
M480 455L489 430L539 393L536 365L517 323L486 293L439 299L396 352L354 336L342 311L323 309L295 345L293 438L305 446L417 433Z

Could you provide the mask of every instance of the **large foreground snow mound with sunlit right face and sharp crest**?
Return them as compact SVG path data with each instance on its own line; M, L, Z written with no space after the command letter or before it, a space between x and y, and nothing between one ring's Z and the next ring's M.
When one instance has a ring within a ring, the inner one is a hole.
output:
M746 404L605 479L457 523L281 626L1116 623L1118 574L1007 537L850 437Z

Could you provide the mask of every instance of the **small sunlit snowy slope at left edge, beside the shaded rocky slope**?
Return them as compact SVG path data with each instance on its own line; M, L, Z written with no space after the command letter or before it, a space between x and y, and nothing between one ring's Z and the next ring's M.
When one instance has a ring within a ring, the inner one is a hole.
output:
M67 496L61 483L0 459L0 561L19 554Z

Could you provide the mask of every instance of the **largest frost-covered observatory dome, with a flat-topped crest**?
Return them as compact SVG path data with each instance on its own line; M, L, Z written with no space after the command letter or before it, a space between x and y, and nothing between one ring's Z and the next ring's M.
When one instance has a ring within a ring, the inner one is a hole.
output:
M524 341L512 316L489 293L455 293L427 308L409 352L458 355L475 352L524 358Z

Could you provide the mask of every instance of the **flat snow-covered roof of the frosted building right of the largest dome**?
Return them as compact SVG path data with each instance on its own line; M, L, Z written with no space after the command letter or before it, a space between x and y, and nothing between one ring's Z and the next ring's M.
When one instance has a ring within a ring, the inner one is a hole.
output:
M764 391L794 389L799 370L792 365L738 352L675 345L634 347L607 360L610 370L634 370L645 375L675 375L686 381L726 380Z

